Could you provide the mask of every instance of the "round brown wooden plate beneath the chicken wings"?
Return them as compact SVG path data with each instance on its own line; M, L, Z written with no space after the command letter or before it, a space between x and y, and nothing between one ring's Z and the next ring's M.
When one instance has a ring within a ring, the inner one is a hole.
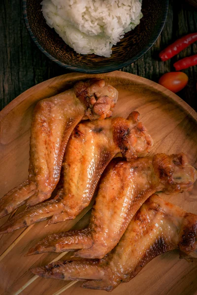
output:
M32 111L36 102L64 89L76 81L89 77L103 77L119 90L115 116L127 117L133 110L153 137L151 154L167 154L183 151L190 163L197 167L197 114L164 87L147 79L116 71L108 74L66 74L50 79L25 91L0 112L0 192L3 196L9 189L28 176L29 138ZM173 197L164 196L175 205L197 214L197 183L190 193ZM82 212L82 215L89 208ZM76 228L85 226L90 213L81 219ZM28 249L44 236L70 229L80 219L46 226L46 221L0 237L0 294L6 295L58 295L69 282L43 279L33 276L31 266L50 263L64 254L40 254L24 257ZM0 220L2 224L6 218ZM65 257L68 257L67 254ZM65 258L64 257L64 258ZM73 282L72 282L73 284ZM70 286L70 285L67 285ZM64 294L104 295L105 291L81 289L80 283L72 285ZM196 294L197 262L180 260L178 251L165 253L150 262L129 283L121 284L111 294L116 295L175 295Z

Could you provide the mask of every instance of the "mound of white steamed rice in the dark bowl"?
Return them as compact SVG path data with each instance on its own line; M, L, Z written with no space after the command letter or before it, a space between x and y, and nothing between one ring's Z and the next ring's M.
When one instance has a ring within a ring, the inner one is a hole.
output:
M140 22L141 0L43 0L47 24L80 54L109 58L112 46Z

